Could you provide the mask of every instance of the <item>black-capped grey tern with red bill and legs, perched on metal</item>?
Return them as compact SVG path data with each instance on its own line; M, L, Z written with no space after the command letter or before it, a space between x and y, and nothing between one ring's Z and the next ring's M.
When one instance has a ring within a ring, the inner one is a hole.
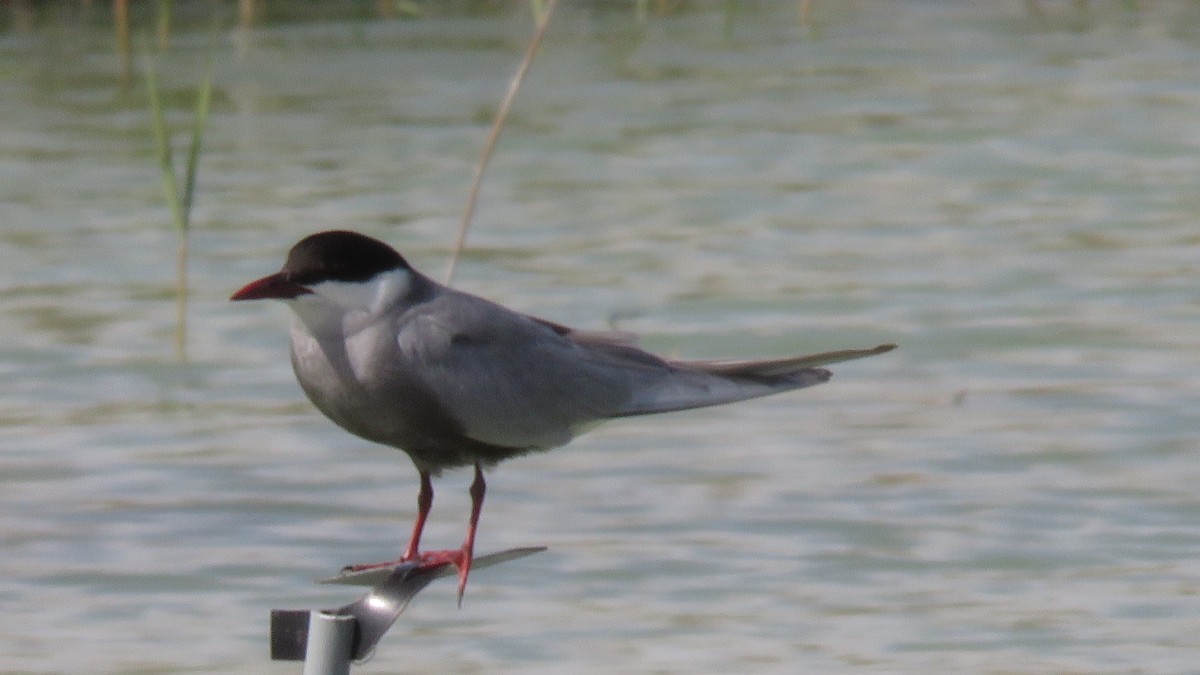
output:
M230 300L274 299L293 313L292 368L338 426L407 453L420 489L397 562L454 565L458 605L492 465L566 444L598 423L730 404L821 384L823 365L895 345L758 360L677 360L636 336L578 330L508 309L421 274L395 249L335 229L301 239L283 267ZM432 478L473 467L460 549L421 551ZM352 566L354 569L383 567Z

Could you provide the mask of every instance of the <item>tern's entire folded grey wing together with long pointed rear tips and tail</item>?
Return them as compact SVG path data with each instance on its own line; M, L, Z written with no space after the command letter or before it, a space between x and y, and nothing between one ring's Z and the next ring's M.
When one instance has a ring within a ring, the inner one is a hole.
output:
M406 312L400 366L476 441L551 448L613 417L713 406L811 387L816 368L893 348L772 360L667 362L628 333L576 331L457 291Z

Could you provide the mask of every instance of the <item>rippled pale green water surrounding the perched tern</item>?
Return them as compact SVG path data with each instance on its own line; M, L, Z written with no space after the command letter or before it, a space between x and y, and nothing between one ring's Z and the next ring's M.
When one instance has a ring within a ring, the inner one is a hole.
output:
M7 25L0 670L294 673L268 611L398 552L407 459L302 400L282 307L226 299L332 226L442 274L516 5L221 35L186 365L138 80L103 17ZM504 465L481 550L551 550L461 611L431 589L356 671L1195 670L1200 6L796 5L564 7L457 283L673 354L901 351Z

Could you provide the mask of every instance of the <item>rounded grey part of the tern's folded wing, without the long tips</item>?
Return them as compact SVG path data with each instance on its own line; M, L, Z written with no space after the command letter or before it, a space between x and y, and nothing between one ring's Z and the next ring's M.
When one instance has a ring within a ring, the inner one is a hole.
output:
M570 329L458 293L439 293L400 319L403 368L463 432L514 448L550 448L618 414L640 371L660 359L614 359L569 338ZM646 376L646 375L643 375Z

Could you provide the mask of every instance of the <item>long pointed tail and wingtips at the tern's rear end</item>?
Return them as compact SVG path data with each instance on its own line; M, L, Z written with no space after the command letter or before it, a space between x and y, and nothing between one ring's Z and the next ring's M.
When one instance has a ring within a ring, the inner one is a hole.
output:
M770 360L677 360L671 372L644 387L613 417L650 414L731 404L828 382L833 374L818 365L890 352L895 345L844 350Z

